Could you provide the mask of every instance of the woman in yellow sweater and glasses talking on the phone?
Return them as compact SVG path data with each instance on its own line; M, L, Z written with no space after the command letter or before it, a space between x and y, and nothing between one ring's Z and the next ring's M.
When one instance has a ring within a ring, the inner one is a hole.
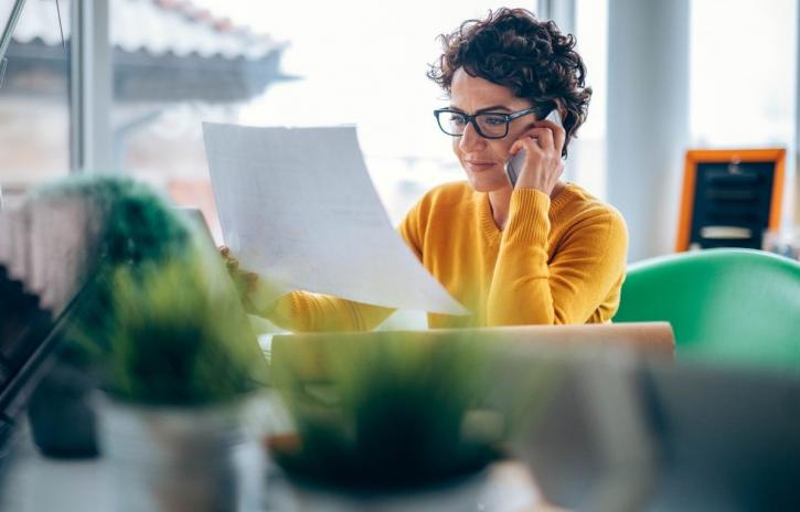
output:
M429 327L609 321L625 278L625 221L559 180L591 96L573 36L526 10L501 9L441 40L428 76L450 97L436 116L467 181L425 194L399 233L473 313L429 314ZM563 126L545 119L553 109ZM523 150L512 188L505 164ZM391 312L301 291L260 311L296 331L369 330Z

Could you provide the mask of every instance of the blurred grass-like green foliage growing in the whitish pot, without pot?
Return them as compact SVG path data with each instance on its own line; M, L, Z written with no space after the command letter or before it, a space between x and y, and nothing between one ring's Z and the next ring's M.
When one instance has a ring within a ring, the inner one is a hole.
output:
M266 383L266 360L234 294L198 259L114 271L106 382L122 401L206 405Z

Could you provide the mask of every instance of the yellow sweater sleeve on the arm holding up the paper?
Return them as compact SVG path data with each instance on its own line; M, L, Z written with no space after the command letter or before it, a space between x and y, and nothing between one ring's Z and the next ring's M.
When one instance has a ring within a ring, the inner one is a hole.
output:
M397 231L417 258L422 259L417 211L418 207L415 206ZM394 311L393 308L355 302L329 295L292 291L278 299L264 316L276 326L295 332L341 332L371 331Z

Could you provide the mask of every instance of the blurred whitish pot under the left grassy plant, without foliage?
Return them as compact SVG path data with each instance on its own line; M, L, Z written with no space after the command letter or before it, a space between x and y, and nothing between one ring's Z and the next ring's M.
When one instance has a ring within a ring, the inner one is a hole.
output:
M104 402L100 442L121 512L245 511L260 504L252 401L211 407Z

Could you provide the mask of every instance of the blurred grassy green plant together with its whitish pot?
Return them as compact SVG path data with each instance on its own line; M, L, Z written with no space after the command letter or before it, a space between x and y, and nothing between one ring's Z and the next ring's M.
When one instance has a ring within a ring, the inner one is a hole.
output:
M266 360L236 295L214 290L191 258L118 268L111 279L100 440L118 510L253 506L262 467L247 416Z

